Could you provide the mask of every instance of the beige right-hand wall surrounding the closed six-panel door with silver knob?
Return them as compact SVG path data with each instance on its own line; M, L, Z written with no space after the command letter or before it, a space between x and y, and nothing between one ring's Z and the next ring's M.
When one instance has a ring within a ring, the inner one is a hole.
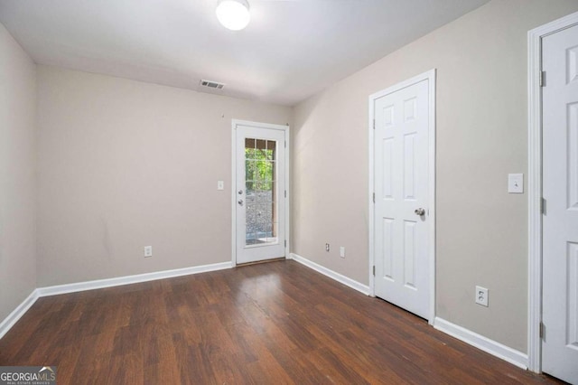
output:
M435 68L436 314L526 352L527 195L507 174L527 176L527 31L574 11L492 1L296 106L293 251L368 284L368 95Z

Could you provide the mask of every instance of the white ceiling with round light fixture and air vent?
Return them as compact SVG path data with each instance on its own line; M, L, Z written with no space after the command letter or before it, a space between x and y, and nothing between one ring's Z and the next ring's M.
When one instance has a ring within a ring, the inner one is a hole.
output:
M0 0L34 61L294 105L489 0L249 0L231 32L217 0Z

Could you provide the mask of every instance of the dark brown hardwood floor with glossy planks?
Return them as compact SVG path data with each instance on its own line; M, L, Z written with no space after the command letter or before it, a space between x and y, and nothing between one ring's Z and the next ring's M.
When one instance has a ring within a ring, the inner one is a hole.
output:
M40 298L0 365L59 384L554 383L294 261Z

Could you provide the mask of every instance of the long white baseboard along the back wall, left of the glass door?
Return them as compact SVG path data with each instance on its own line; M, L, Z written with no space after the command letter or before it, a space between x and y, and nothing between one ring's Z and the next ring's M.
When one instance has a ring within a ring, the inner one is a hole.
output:
M232 268L231 262L213 263L210 265L193 266L191 268L176 268L173 270L155 271L153 273L137 274L135 276L97 279L94 281L77 282L74 284L39 287L38 296L56 296L59 294L74 293L85 290L93 290L103 287L137 284L140 282L154 281L157 279L189 276L191 274L206 273L209 271Z

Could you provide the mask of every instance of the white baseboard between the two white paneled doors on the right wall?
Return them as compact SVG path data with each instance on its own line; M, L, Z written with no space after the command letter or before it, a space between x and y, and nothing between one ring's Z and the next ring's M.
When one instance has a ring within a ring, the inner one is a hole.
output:
M528 361L526 353L519 352L504 344L497 343L496 341L490 340L488 337L474 333L457 324L452 324L440 317L435 317L433 327L443 333L452 335L452 337L455 337L464 343L469 343L471 346L516 365L519 368L527 369Z

